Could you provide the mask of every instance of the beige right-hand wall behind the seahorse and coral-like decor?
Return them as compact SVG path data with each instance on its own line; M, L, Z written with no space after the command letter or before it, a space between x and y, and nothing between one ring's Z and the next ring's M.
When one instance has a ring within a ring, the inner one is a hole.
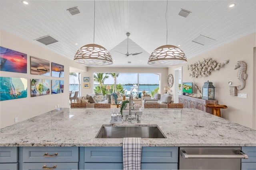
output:
M255 127L255 53L256 46L255 33L246 37L242 37L236 41L208 51L202 55L198 55L188 60L188 63L182 65L182 81L196 82L199 88L202 89L204 82L212 82L215 87L215 98L221 105L228 106L227 109L221 109L222 117L232 122L245 125L256 129ZM254 56L254 57L253 57ZM217 63L222 63L229 60L229 63L217 71L213 71L210 76L202 78L191 78L189 73L191 70L187 66L194 64L197 61L202 62L203 59L212 58ZM247 98L238 98L237 96L230 96L228 81L232 81L232 86L238 86L240 81L237 77L238 69L234 70L237 61L244 61L247 64L247 79L245 88L238 90L238 93L247 94ZM174 75L174 68L180 66L173 66L168 68L168 74ZM193 82L194 84L194 82ZM194 88L194 86L193 86ZM254 90L253 90L254 89ZM173 90L173 89L172 89ZM199 95L196 88L193 93Z

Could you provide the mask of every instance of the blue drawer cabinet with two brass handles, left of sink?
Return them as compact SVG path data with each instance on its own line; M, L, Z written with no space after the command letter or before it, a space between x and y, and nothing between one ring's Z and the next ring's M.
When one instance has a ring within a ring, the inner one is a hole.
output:
M78 147L20 147L20 169L78 169Z

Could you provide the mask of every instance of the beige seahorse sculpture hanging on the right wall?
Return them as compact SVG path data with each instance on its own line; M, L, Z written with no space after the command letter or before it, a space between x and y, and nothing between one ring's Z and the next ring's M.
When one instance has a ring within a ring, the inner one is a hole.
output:
M241 82L241 85L238 85L236 88L237 88L237 90L242 90L244 88L244 86L245 86L245 80L247 78L246 63L244 63L243 61L238 61L236 63L236 66L235 66L235 70L237 68L239 68L239 70L237 72L237 76L238 76L238 79Z

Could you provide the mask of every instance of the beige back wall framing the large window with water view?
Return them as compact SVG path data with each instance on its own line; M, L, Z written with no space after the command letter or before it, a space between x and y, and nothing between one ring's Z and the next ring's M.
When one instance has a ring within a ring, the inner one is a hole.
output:
M86 95L93 92L93 73L94 72L118 72L118 73L160 73L160 92L165 93L164 87L167 87L167 72L168 68L111 68L111 67L88 67L87 72L81 73L81 78L90 77L90 88L81 88L81 95ZM83 84L83 82L81 83ZM113 83L114 84L114 83Z

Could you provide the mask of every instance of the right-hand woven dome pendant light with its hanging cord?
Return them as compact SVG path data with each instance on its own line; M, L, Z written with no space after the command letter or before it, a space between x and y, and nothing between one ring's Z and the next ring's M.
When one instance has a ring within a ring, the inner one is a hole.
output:
M185 53L174 45L167 45L168 25L167 25L167 7L166 3L166 45L155 49L148 59L148 64L153 66L175 66L187 63Z

